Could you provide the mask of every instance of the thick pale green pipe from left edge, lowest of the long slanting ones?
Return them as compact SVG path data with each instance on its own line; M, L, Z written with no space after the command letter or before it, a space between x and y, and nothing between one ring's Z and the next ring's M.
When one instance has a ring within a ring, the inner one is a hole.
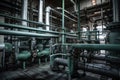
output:
M13 31L13 30L0 30L1 35L14 35L14 36L30 36L30 37L58 37L57 35L52 34L38 34L31 32L21 32L21 31Z

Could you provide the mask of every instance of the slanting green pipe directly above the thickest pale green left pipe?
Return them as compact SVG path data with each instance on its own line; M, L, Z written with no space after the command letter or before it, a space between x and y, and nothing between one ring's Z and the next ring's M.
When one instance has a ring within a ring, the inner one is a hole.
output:
M40 29L37 29L37 28L25 27L25 26L22 26L22 25L2 23L2 22L0 22L0 27L18 28L18 29L38 31L38 32L45 32L45 33L53 33L53 34L63 34L63 33L61 33L61 32L56 32L56 31L40 30ZM70 34L70 33L64 33L64 34L65 34L65 35L69 35L69 36L75 36L75 37L77 37L76 35Z

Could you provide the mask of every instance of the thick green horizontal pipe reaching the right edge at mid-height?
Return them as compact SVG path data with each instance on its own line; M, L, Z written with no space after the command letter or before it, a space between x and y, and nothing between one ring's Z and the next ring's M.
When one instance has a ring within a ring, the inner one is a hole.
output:
M120 51L119 44L64 44L64 45L70 45L75 48L87 49L87 50Z

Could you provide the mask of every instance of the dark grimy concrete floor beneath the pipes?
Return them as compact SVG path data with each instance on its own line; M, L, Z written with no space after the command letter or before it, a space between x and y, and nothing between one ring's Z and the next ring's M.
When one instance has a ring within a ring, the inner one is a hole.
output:
M100 80L100 76L87 73L87 76L73 78L72 80ZM0 73L0 80L68 80L67 75L50 70L48 64L27 67L15 71L5 71Z

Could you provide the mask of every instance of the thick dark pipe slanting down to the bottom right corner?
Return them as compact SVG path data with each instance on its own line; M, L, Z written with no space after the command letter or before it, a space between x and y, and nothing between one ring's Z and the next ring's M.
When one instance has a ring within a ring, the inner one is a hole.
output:
M85 71L92 72L92 73L99 74L99 75L103 75L103 76L108 76L108 77L115 78L115 79L120 78L120 74L118 70L108 69L107 67L98 68L95 66L90 66L89 64L79 63L78 69L85 70Z

